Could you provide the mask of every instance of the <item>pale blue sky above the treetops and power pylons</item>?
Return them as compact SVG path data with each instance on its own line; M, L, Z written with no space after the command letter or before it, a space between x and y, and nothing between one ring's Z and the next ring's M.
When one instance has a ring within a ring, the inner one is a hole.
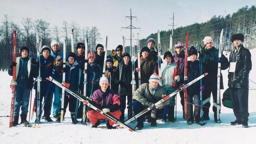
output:
M195 22L209 20L213 15L232 14L243 6L256 5L253 0L1 0L0 18L8 14L10 20L21 26L22 18L32 20L44 19L51 24L62 26L63 21L77 22L80 27L97 26L105 43L108 36L108 48L115 48L122 44L122 36L128 38L130 31L122 29L130 25L125 16L137 16L133 25L141 28L140 38L145 38L157 30L171 29L170 18L175 15L175 26L186 26ZM175 35L175 34L174 34ZM99 41L100 42L100 41ZM126 40L126 45L129 41Z

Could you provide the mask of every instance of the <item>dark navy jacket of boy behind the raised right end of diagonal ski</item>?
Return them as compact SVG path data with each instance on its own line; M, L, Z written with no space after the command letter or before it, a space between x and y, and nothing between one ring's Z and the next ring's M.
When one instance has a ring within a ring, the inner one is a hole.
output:
M196 60L193 62L188 58L188 83L200 76L199 63L200 62L199 62L198 58L196 58ZM184 67L181 71L184 73ZM181 79L182 79L181 80L182 84L184 84L184 76L182 76ZM191 86L189 86L187 88L187 91L191 92L191 93L200 92L200 81L197 81L197 82L193 83Z

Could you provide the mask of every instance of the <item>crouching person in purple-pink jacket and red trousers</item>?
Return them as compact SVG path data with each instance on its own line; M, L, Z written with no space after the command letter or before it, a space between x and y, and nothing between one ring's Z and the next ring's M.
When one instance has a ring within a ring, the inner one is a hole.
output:
M92 95L92 101L95 102L96 105L103 108L103 112L109 112L114 117L119 119L121 116L121 111L119 110L120 100L117 93L113 89L109 88L109 82L105 76L100 78L99 85L100 88ZM92 124L91 128L96 128L100 125L99 119L108 119L106 116L95 110L89 110L87 115ZM113 129L114 127L112 125L114 123L114 121L108 119L107 128Z

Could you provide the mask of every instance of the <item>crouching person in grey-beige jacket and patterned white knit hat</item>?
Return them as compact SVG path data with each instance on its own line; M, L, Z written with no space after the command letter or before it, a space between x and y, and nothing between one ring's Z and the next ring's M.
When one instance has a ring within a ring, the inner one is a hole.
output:
M146 115L150 114L151 116L151 126L157 126L157 118L164 118L170 111L167 107L170 101L165 101L157 106L155 106L154 103L165 96L166 90L159 85L159 76L156 73L152 74L149 79L149 84L144 83L140 85L132 97L134 114L136 115L145 108L150 107L152 110L148 111ZM138 124L135 130L141 130L144 127L143 120L144 115L137 118Z

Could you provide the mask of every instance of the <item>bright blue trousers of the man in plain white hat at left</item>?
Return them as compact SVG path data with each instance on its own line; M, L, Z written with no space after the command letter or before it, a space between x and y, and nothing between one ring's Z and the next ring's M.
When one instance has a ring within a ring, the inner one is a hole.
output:
M53 95L54 95L54 102L53 102ZM52 104L53 104L53 116L60 113L61 96L62 96L62 89L56 85L54 93L52 93L52 95L51 95L50 112L51 112L51 108L52 108Z

